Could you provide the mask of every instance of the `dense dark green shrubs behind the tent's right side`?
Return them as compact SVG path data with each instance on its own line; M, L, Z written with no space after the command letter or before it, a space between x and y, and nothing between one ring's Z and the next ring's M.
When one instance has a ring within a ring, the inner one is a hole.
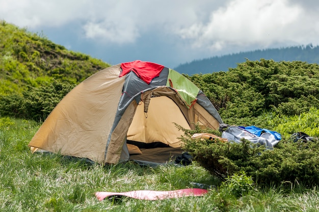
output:
M195 74L194 82L223 118L257 117L275 109L295 115L319 107L318 64L260 59L227 72Z

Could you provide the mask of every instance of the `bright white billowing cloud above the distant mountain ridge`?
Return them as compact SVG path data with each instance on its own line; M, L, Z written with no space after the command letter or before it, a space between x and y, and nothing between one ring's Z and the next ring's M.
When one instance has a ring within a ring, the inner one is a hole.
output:
M306 10L288 1L235 0L212 11L208 23L194 23L176 33L194 48L212 51L227 46L267 48L276 43L319 43L313 23L318 19L311 21Z

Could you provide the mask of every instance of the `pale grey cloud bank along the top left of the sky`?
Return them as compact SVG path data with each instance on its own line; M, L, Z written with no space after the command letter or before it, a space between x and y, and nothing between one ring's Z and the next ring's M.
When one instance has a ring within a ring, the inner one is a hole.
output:
M125 44L145 32L174 35L177 27L208 20L207 9L222 4L209 0L0 0L0 18L32 30L81 22L83 34L79 36Z

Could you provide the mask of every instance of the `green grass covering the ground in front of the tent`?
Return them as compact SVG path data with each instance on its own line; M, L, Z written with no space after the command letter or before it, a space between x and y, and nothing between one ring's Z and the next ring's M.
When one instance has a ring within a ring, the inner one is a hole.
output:
M233 195L194 163L190 166L141 167L128 162L89 164L56 154L31 154L27 146L39 123L0 118L1 211L317 211L319 192L298 184L258 188ZM216 185L203 197L158 201L123 198L98 201L95 192L168 191L191 182ZM288 188L288 189L287 189Z

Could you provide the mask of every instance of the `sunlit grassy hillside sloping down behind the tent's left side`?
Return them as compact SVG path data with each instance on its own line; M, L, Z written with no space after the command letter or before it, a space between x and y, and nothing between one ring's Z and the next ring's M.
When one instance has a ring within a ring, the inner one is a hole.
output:
M0 95L21 94L28 86L48 85L53 79L79 83L109 66L0 21Z

